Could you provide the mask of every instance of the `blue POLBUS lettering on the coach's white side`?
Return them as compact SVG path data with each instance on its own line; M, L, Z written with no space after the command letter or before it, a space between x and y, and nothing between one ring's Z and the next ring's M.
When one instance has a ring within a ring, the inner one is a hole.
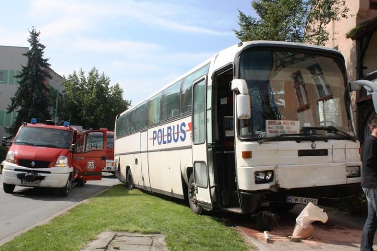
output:
M156 141L158 145L170 144L173 141L177 143L179 140L182 142L185 141L186 140L185 127L186 127L186 123L182 122L181 124L177 124L176 126L167 126L166 128L162 128L162 129L160 128L158 130L154 130L152 132L153 145L155 145Z

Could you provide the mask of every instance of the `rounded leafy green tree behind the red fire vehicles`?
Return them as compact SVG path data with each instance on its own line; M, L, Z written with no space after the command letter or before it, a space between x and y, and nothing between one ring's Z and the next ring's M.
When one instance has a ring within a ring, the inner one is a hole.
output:
M110 86L110 79L93 67L88 75L80 69L68 76L65 91L59 99L58 117L85 129L108 128L114 130L115 117L131 104L123 99L119 84Z

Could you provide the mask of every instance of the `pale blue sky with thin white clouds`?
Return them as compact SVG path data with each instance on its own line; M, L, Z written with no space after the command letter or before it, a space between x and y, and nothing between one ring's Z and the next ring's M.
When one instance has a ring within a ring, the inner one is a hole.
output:
M40 32L59 75L97 68L132 104L237 44L251 0L0 0L0 45L29 47ZM1 59L0 59L1 60Z

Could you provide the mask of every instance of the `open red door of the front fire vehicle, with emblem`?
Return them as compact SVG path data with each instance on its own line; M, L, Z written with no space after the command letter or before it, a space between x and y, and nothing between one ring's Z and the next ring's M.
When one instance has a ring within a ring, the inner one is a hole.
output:
M102 179L102 168L106 166L106 131L87 131L73 145L72 165L81 171L84 181Z

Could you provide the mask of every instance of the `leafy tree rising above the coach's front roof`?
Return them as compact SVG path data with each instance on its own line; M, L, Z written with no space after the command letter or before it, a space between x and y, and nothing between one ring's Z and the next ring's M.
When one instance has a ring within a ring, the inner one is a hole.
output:
M275 40L324 45L331 21L347 18L345 0L253 0L259 18L239 12L241 41Z

